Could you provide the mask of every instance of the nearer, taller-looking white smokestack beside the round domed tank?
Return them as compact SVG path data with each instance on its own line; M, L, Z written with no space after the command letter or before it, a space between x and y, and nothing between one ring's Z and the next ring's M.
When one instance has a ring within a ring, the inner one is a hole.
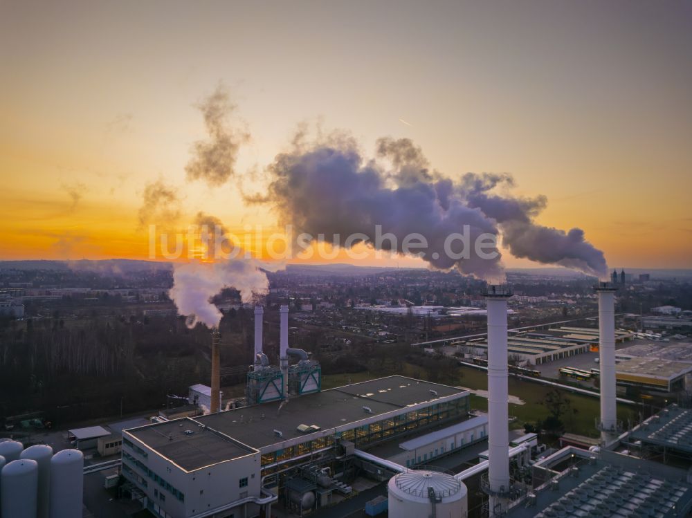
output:
M506 285L488 285L483 294L488 311L488 445L487 492L490 516L502 515L509 497L509 416L507 388Z

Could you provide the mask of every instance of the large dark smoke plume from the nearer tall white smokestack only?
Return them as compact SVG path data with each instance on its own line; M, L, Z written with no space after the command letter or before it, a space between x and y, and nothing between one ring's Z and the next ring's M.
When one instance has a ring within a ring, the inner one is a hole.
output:
M470 227L471 242L480 234L497 234L498 230L480 210L468 207L458 197L448 198L442 207L435 183L426 176L419 175L426 181L416 180L415 175L403 172L406 167L417 167L420 172L423 164L410 155L397 155L406 144L386 142L384 154L399 165L388 174L374 163L364 163L347 140L338 142L342 145L330 142L332 145L280 154L269 169L273 177L271 203L296 234L327 234L330 242L338 234L336 244L345 246L349 235L362 233L370 238L367 243L375 246L376 225L381 225L381 234L391 233L397 238L396 246L383 240L382 250L401 253L405 237L418 233L428 241L421 257L435 268L457 268L482 277L502 275L499 252L495 259L480 259L475 253L459 261L448 257L444 241L449 234L462 232L464 225ZM390 188L388 178L405 181Z

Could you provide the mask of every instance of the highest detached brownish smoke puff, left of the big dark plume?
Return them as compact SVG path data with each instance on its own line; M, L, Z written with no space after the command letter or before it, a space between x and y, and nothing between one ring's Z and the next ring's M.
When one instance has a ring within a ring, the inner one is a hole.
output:
M197 108L203 115L209 138L194 142L193 156L185 166L185 172L190 181L203 180L211 186L223 185L235 176L238 151L250 135L228 125L228 117L236 106L230 102L224 86L219 85Z

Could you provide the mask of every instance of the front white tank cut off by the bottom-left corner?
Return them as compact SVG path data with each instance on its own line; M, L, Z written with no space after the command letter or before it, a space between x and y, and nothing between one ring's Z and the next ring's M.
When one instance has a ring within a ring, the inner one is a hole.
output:
M31 459L7 463L1 475L3 517L36 518L39 465ZM75 515L81 516L81 515Z

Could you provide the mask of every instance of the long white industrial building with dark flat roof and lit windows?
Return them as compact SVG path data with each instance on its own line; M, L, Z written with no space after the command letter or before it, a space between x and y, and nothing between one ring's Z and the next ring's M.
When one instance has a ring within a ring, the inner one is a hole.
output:
M159 517L251 517L260 508L268 515L292 468L318 463L345 472L355 448L466 419L468 395L390 376L155 423L123 432L122 474L134 497ZM323 489L343 486L335 480Z

